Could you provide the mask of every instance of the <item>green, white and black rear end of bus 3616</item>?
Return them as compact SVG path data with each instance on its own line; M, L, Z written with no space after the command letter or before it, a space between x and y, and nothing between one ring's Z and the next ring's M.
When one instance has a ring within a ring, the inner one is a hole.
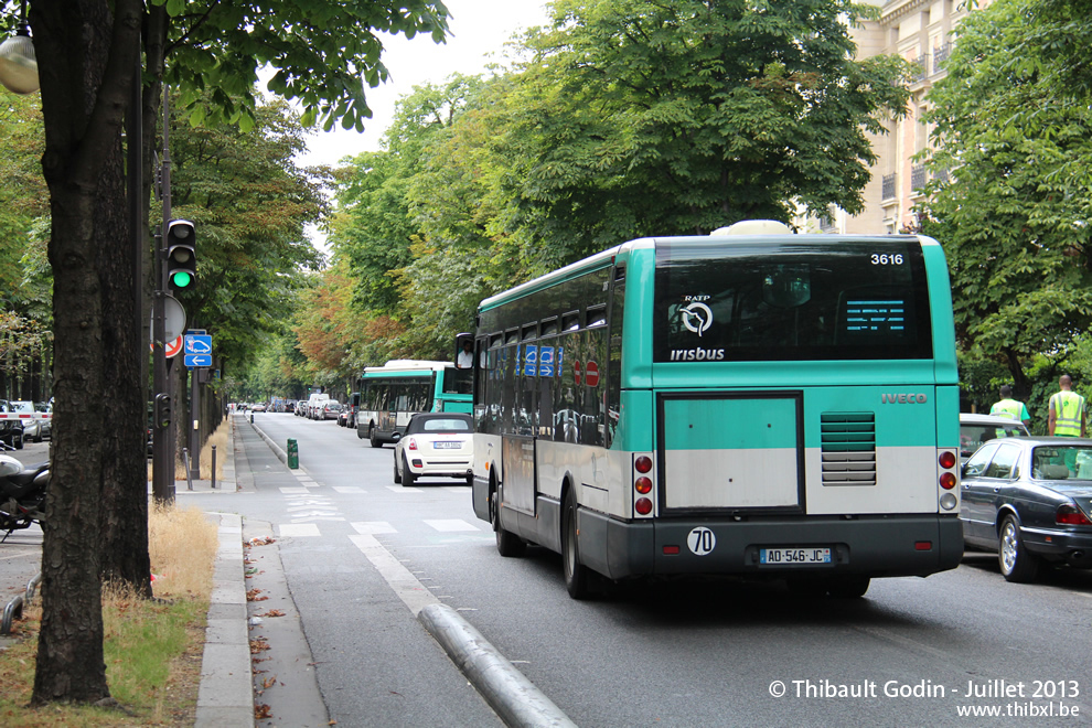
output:
M619 256L633 511L619 528L627 547L609 548L601 570L806 580L957 566L959 385L940 246L642 243ZM649 269L654 285L635 285Z

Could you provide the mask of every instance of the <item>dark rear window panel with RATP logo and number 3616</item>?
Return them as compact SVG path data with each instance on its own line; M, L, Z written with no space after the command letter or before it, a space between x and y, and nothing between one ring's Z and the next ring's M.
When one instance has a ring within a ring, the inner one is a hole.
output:
M931 358L917 238L659 240L656 362Z

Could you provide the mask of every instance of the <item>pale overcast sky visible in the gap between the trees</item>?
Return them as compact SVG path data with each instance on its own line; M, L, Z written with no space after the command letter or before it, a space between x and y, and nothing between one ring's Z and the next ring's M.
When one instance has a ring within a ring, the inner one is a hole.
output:
M504 44L521 30L546 22L546 0L443 0L448 8L448 39L445 44L429 35L407 40L403 35L384 41L383 63L387 82L365 90L372 119L363 132L340 126L320 130L308 140L302 165L335 165L344 157L378 151L383 133L390 126L395 101L414 86L440 83L453 73L477 74L486 65L503 61Z

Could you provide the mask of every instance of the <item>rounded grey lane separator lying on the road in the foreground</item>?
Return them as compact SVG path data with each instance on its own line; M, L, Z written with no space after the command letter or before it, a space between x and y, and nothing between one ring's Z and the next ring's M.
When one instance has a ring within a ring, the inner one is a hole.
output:
M535 684L447 604L429 604L417 615L451 661L478 688L504 725L514 728L576 728Z

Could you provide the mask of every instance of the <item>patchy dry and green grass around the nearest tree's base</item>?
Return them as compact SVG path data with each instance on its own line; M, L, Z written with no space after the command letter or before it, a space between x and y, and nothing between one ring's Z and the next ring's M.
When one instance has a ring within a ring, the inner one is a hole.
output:
M41 623L35 601L17 623L19 641L0 652L0 726L193 725L218 548L216 526L200 511L160 506L149 515L148 534L159 599L139 599L113 586L103 593L107 684L120 708L28 707Z

